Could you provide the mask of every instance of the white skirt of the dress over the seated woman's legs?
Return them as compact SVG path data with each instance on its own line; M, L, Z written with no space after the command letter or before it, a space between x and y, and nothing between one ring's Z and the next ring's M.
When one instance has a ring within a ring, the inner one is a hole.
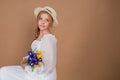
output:
M28 73L21 66L0 68L0 80L56 80L56 70L50 75Z

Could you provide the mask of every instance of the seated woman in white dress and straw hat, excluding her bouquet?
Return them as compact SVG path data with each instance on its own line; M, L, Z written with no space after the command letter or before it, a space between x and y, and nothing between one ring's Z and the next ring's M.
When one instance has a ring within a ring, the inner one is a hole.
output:
M56 42L50 28L58 24L56 12L51 7L38 7L34 10L37 18L36 39L32 42L31 49L41 50L41 66L32 68L26 65L28 56L21 61L21 66L6 66L0 69L0 80L56 80Z

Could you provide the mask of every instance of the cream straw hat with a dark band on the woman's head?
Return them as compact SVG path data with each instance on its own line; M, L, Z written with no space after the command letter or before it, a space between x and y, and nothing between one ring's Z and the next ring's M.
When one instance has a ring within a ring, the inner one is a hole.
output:
M46 11L47 13L49 13L52 16L53 27L56 27L58 25L57 14L56 14L56 12L53 8L51 8L49 6L35 8L34 9L34 15L35 15L36 18L41 11Z

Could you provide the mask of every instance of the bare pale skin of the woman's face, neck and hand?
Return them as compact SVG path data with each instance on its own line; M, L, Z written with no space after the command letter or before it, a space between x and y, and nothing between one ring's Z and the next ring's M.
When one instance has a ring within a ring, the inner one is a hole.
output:
M39 29L40 29L40 34L39 34L37 40L40 41L41 38L43 37L43 35L45 35L45 34L51 34L50 28L52 26L52 23L53 23L53 21L52 21L52 18L50 17L49 14L42 13L39 15L37 24L38 24ZM20 62L20 65L23 69L25 69L26 59L23 59Z

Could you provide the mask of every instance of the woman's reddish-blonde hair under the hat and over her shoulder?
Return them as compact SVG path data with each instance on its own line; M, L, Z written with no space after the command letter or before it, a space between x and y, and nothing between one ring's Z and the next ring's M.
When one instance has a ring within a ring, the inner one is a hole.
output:
M41 12L37 15L37 22L38 22L38 20L39 20L39 16L42 15L42 14L44 14L44 13L47 13L47 14L50 16L50 18L52 19L52 23L53 23L53 18L52 18L52 16L51 16L48 12L46 12L46 11L41 11ZM39 29L39 26L37 25L37 27L36 27L36 29L35 29L35 39L37 39L39 35L40 35L40 29Z

